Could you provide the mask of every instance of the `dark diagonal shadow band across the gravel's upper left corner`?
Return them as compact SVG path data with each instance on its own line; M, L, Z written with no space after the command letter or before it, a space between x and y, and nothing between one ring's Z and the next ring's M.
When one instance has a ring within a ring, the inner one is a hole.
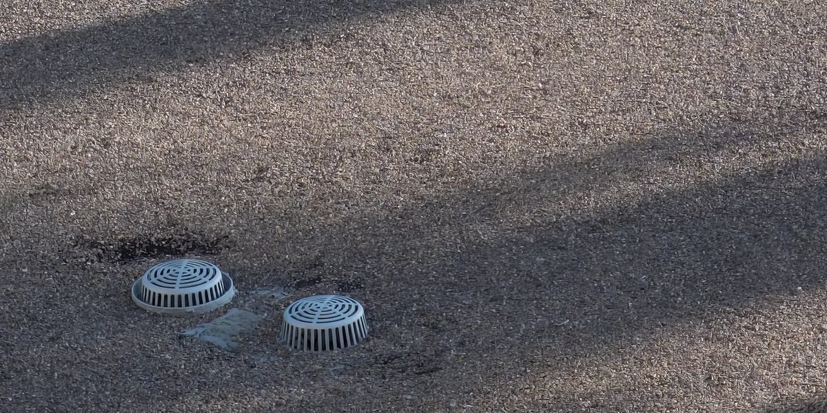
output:
M423 0L211 0L0 45L0 109L79 97L129 78L301 42L308 31Z

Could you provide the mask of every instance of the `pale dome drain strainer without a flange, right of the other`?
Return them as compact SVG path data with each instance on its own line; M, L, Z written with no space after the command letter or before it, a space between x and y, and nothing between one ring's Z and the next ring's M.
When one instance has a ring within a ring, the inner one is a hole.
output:
M359 301L342 296L313 296L284 309L281 339L292 349L344 349L365 339L365 310Z

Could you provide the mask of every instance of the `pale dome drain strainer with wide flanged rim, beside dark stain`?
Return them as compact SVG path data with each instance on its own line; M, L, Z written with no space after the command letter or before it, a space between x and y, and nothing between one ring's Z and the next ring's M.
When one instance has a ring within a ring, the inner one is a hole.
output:
M200 259L174 259L155 265L132 284L132 301L149 311L183 315L213 311L236 290L232 278Z

